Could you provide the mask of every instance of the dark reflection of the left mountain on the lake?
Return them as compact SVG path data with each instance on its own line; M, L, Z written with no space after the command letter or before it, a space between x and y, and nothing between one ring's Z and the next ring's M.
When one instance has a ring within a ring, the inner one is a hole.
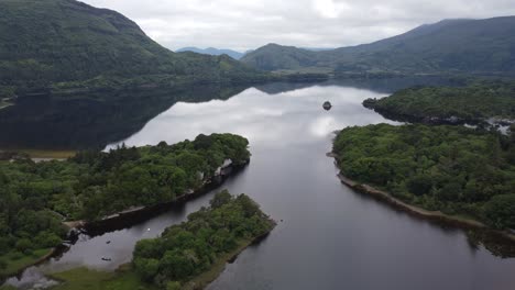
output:
M141 130L177 101L226 100L246 87L197 86L74 99L31 97L0 110L0 147L25 149L102 148ZM173 130L173 127L171 127Z

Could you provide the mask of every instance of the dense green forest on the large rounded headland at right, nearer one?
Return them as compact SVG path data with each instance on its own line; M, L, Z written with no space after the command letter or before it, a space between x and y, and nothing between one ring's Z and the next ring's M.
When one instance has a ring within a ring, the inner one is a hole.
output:
M428 210L515 228L515 133L368 125L342 130L333 152L350 179Z

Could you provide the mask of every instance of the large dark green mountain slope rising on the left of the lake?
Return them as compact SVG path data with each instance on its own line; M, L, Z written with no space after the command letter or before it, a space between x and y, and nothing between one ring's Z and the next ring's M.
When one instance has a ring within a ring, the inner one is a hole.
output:
M228 56L173 53L122 14L75 0L1 0L0 11L0 96L264 76Z

